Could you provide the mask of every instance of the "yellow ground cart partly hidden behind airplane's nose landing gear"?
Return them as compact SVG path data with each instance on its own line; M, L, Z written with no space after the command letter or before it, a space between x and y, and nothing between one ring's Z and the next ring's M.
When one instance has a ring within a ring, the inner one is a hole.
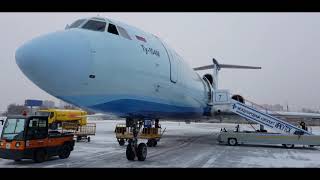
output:
M116 139L120 146L125 145L127 141L129 141L130 139L133 139L133 128L130 127L127 123L117 124L114 131L116 134ZM145 120L144 127L139 131L137 138L147 139L148 140L147 146L155 147L157 146L163 133L166 130L164 129L162 131L161 129L162 128L158 120L155 120L154 124L152 124L151 120Z

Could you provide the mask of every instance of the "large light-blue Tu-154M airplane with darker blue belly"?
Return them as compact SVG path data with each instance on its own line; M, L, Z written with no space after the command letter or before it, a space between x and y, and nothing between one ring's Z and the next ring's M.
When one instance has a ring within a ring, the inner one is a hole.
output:
M126 156L140 161L147 155L146 145L137 140L141 122L214 116L210 101L219 70L261 69L215 59L192 68L156 35L103 17L78 19L36 37L16 50L15 59L24 75L52 96L126 118L134 135ZM196 72L208 69L212 74L203 77Z

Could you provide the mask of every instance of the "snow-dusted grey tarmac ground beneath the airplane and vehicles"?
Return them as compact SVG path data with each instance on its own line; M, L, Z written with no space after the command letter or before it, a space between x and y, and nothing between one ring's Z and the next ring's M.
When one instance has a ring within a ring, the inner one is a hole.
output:
M225 123L162 122L166 132L157 147L148 148L146 161L128 161L126 146L119 146L114 134L115 125L123 121L91 122L97 123L96 136L91 142L76 143L68 159L52 157L41 164L0 159L0 167L320 167L318 148L219 145L220 128L235 127ZM312 130L320 134L320 127Z

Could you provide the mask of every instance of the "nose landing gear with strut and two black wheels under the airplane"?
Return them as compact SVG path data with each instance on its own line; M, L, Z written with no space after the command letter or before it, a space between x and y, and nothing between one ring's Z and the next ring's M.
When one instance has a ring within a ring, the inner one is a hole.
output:
M132 128L133 138L128 141L126 156L129 161L133 161L135 157L139 161L144 161L147 157L147 145L140 143L138 145L138 133L142 127L143 121L136 119L126 119L126 124Z

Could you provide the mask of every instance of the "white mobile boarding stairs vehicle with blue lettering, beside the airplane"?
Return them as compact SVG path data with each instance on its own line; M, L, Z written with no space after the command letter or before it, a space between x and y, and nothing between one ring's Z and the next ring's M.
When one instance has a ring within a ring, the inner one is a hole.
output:
M244 143L282 144L286 148L293 148L294 145L320 146L319 135L314 135L305 129L270 115L268 112L259 110L252 104L251 106L245 104L244 99L239 95L231 97L227 90L217 90L214 94L214 108L218 112L221 109L229 110L229 112L260 125L260 129L255 131L240 131L239 125L235 130L223 128L218 136L219 143L227 143L231 146ZM265 127L276 132L268 132Z

